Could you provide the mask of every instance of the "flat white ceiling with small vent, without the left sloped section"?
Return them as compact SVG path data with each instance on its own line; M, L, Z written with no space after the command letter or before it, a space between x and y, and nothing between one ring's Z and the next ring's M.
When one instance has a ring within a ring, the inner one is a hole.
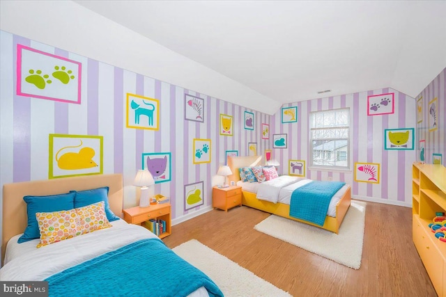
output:
M75 2L282 103L416 97L446 66L446 1Z

